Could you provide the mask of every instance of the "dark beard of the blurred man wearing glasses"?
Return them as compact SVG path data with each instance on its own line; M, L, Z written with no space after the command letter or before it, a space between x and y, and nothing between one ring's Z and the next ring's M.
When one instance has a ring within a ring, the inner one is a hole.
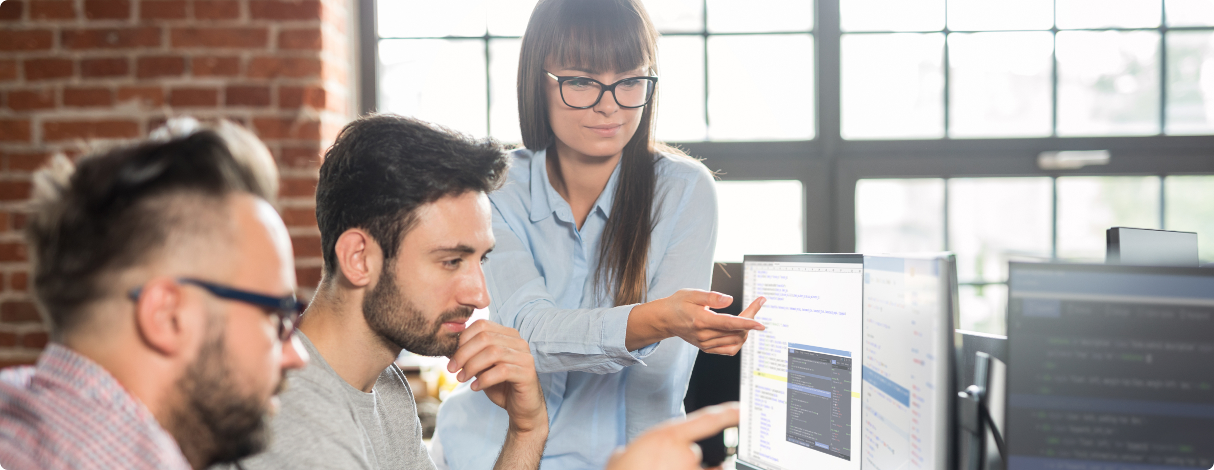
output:
M270 443L268 403L240 394L239 380L227 363L222 331L208 331L208 337L176 385L185 403L174 413L172 435L195 468L237 462ZM285 386L283 377L274 395Z

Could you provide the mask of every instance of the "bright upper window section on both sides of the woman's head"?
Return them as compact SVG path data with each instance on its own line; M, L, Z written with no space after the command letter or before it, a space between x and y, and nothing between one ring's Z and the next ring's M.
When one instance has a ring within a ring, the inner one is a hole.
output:
M658 138L813 137L812 2L645 4L662 33ZM379 110L521 141L518 46L534 5L534 0L379 0ZM770 86L773 81L781 86Z

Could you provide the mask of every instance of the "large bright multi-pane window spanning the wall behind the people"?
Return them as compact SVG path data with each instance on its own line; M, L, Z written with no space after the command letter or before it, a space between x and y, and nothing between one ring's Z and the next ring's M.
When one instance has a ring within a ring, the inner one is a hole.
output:
M365 110L520 141L534 0L359 1ZM725 179L720 260L951 250L987 332L1009 259L1097 260L1111 225L1214 262L1214 0L642 1L658 137ZM1056 150L1111 161L1038 166Z

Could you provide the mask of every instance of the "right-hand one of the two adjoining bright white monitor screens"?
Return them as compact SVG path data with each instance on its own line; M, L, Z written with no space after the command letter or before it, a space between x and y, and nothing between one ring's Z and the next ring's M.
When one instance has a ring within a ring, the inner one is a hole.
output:
M864 257L863 470L951 468L951 269Z

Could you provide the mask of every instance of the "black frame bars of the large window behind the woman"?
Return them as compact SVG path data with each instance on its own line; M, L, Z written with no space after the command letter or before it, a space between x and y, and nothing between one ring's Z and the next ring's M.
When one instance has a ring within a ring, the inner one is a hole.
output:
M1158 0L1161 4L1164 0ZM1214 174L1214 136L1136 137L1034 137L1034 138L942 138L897 141L849 141L840 134L840 41L839 0L817 0L815 24L809 31L815 47L815 138L776 142L671 142L720 172L725 180L796 179L802 187L804 250L806 252L852 252L856 248L856 182L868 178L963 178L1025 176L1174 176ZM707 17L704 18L707 23ZM359 27L359 111L375 110L376 45L375 0L358 0ZM1101 28L1125 30L1214 29L1212 28ZM707 28L705 28L707 30ZM1057 29L1053 29L1055 33ZM947 30L944 30L947 33ZM805 34L782 31L765 34ZM936 31L940 33L940 31ZM730 33L721 33L726 35ZM851 34L851 33L849 33ZM869 34L869 33L862 33ZM669 35L704 35L673 33ZM714 33L716 35L716 33ZM488 41L498 38L481 39ZM472 38L476 39L476 38ZM1165 93L1167 36L1161 35L1161 81ZM705 46L707 47L707 46ZM946 40L947 47L947 40ZM705 48L707 51L707 48ZM707 52L705 52L707 53ZM948 76L944 56L946 81ZM707 57L705 57L705 68ZM1055 68L1056 70L1056 68ZM705 79L707 80L707 79ZM1055 73L1056 81L1056 73ZM1056 90L1056 87L1054 88ZM704 90L708 93L708 87ZM943 96L949 113L948 90ZM1056 94L1056 93L1055 93ZM1165 94L1161 94L1161 132L1165 119ZM1056 96L1055 96L1056 99ZM705 97L705 113L707 97ZM1056 107L1053 111L1056 114ZM947 120L947 117L946 117ZM946 121L947 122L947 121ZM1056 132L1056 119L1055 119ZM1079 170L1042 170L1037 156L1043 151L1108 150L1108 165ZM1056 224L1056 214L1053 218ZM730 223L730 220L721 220ZM1055 243L1056 246L1056 243Z

